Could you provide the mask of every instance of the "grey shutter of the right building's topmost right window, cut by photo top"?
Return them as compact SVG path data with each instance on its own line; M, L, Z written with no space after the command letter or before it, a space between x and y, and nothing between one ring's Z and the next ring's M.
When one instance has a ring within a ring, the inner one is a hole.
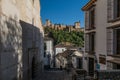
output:
M108 8L107 8L107 14L108 14L108 21L114 19L114 0L108 0Z

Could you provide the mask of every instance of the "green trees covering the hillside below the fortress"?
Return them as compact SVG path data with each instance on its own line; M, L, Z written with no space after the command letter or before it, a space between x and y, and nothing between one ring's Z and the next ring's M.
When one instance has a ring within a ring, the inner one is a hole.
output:
M69 32L69 31L63 31L63 30L54 30L48 27L45 27L44 30L45 30L45 34L48 34L48 37L51 37L54 39L55 45L61 42L70 42L79 47L84 46L84 33L82 31Z

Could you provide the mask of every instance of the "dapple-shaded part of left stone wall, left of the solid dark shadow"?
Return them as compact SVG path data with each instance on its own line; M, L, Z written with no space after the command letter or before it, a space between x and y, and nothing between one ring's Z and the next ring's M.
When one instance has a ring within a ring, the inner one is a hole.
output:
M0 15L1 80L13 80L22 76L22 28L20 24Z

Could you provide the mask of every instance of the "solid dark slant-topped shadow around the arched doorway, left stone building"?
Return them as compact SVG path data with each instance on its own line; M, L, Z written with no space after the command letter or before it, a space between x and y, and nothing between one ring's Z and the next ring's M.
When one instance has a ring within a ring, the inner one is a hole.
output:
M40 29L32 24L20 20L20 25L23 41L23 78L30 80L30 78L37 77L40 68L42 69L43 35L40 33Z

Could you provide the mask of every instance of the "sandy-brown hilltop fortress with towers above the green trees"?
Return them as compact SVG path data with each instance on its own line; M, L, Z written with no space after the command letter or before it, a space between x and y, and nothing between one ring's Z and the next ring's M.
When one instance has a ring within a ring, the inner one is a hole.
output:
M44 27L49 27L55 30L64 31L84 31L84 28L80 27L80 22L75 22L74 25L63 25L63 24L52 24L52 22L47 19Z

